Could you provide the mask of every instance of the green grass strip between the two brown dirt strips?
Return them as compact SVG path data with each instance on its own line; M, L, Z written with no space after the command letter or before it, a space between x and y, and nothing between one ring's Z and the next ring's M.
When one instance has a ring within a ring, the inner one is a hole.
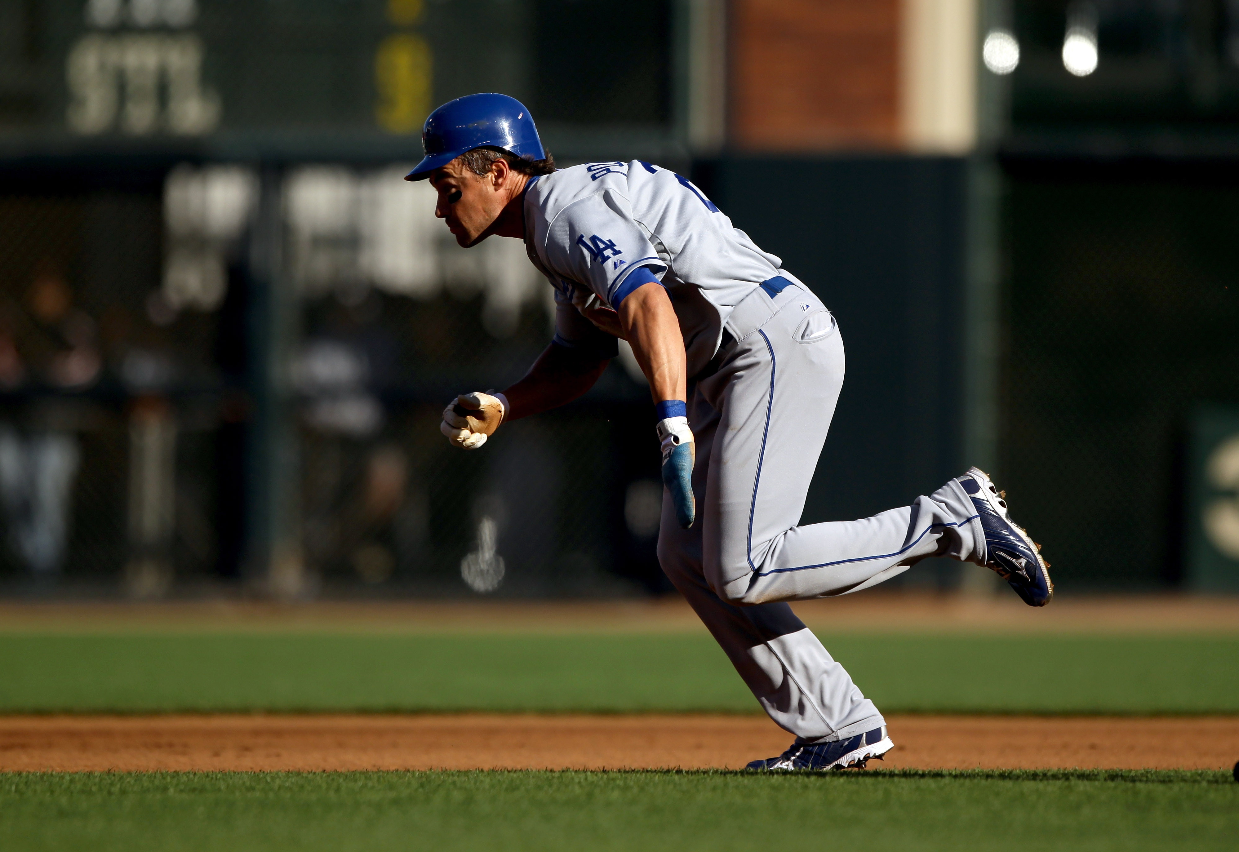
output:
M887 712L1237 713L1237 635L861 635ZM0 712L757 712L706 635L0 634Z

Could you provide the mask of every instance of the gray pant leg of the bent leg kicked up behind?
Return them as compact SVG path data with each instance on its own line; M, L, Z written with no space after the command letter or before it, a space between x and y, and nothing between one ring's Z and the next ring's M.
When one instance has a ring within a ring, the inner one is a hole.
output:
M792 303L732 344L700 384L720 412L698 508L710 587L738 604L803 601L869 588L926 556L984 552L971 500L955 482L872 518L797 526L843 388L844 348L838 329L794 339L799 315L820 302L789 291Z

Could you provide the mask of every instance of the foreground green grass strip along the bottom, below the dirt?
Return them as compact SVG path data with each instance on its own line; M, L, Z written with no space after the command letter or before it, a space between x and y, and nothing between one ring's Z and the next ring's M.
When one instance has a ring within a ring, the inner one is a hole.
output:
M0 848L1233 850L1225 773L0 775Z

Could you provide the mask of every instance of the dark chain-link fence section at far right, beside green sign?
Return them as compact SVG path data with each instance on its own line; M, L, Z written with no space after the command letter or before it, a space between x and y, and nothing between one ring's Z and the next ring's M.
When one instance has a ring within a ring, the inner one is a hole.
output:
M1009 165L1017 518L1063 588L1176 582L1191 409L1239 400L1239 188L1217 163Z

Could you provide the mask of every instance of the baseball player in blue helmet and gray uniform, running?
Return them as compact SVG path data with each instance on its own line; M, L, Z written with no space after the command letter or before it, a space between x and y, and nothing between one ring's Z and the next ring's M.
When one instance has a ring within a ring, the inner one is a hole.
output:
M472 450L569 402L628 341L663 453L658 559L762 707L795 736L750 769L864 767L892 748L873 703L788 601L876 586L927 556L992 568L1026 603L1053 592L1040 546L978 468L912 505L797 526L844 380L813 291L691 182L654 163L556 170L519 102L475 94L426 119L435 214L462 246L522 239L555 289L555 337L503 393L462 394L442 432Z

